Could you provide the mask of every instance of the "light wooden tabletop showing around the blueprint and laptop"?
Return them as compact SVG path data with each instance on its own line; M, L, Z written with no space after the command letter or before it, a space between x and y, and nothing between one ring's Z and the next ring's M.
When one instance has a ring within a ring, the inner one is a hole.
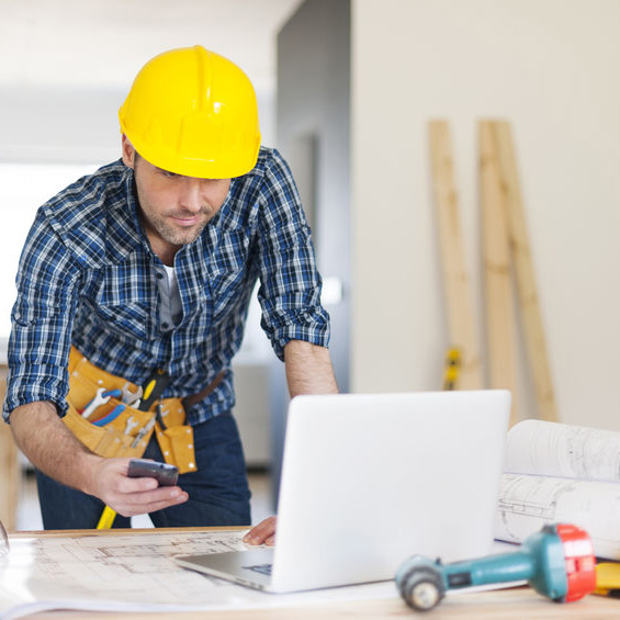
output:
M182 528L183 530L195 530ZM212 528L213 529L213 528ZM230 529L230 528L222 528ZM208 528L204 529L208 531ZM56 532L22 532L18 537L47 537L47 536L117 536L127 534L133 530L112 530L95 532L92 530L56 531ZM135 530L134 530L135 531ZM150 531L153 530L142 530ZM161 530L167 531L167 530ZM178 531L178 530L168 530ZM137 533L137 531L136 531ZM273 595L278 596L278 595ZM33 620L352 620L356 618L377 620L381 618L426 618L427 620L484 620L496 618L501 620L531 620L531 619L579 619L597 620L599 618L619 618L620 600L588 596L579 601L566 605L554 604L536 594L527 587L485 593L460 594L448 596L435 610L428 613L416 613L396 595L392 599L365 601L338 601L316 604L304 607L290 607L281 609L239 609L229 611L200 611L177 613L140 613L140 612L97 612L92 611L54 611L29 616Z

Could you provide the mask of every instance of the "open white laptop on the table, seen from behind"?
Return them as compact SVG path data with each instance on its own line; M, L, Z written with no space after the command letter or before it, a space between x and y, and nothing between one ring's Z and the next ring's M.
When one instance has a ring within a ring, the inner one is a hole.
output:
M271 593L393 579L414 554L489 552L510 394L297 396L274 548L178 556Z

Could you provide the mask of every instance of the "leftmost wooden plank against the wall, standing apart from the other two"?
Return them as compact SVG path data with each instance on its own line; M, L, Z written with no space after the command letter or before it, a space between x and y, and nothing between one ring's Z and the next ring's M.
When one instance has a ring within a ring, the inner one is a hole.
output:
M460 352L459 372L452 387L477 390L483 386L481 356L465 267L448 122L429 123L429 143L450 345L451 349Z

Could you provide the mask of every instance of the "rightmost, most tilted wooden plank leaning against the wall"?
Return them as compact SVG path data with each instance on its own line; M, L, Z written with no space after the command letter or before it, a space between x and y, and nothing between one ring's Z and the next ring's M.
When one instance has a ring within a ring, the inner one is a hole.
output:
M519 308L523 319L526 346L534 382L539 416L544 420L557 421L557 408L555 406L553 381L551 379L551 368L537 293L510 124L507 122L493 123L493 133L495 134L495 144L499 159L501 185L507 207L510 251L517 279Z

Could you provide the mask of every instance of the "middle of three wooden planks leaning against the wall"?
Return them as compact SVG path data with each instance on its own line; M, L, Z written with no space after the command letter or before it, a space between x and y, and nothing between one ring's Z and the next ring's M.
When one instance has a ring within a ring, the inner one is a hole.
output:
M492 123L478 125L484 290L489 385L510 390L510 425L517 416L517 356L508 224Z

